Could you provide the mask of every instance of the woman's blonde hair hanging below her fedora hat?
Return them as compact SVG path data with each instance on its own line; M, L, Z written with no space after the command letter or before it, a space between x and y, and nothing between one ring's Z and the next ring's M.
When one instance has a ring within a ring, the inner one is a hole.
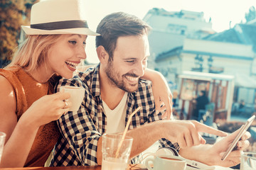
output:
M46 57L51 45L60 39L61 35L28 35L14 54L14 58L5 69L11 66L19 66L27 72L33 72L41 64L46 64Z

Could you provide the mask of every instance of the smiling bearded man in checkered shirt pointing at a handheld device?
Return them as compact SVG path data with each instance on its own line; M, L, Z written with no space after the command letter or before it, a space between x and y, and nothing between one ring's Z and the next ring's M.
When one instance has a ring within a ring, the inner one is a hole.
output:
M62 79L60 86L82 86L85 98L78 112L68 112L58 120L62 138L55 146L51 166L95 165L102 162L102 134L123 132L129 115L142 107L129 125L127 135L134 138L131 158L154 142L161 147L174 147L181 156L198 162L233 166L240 162L240 150L248 146L244 135L240 150L221 161L221 153L235 138L237 132L215 145L204 145L198 132L225 136L196 121L161 120L156 114L154 97L149 81L140 79L149 57L149 26L127 13L112 13L97 27L97 67L80 72L73 79Z

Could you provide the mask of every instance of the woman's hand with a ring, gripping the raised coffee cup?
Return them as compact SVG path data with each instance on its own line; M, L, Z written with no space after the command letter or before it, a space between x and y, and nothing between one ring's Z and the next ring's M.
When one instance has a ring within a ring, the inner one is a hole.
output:
M35 127L58 120L72 105L69 101L65 101L68 98L70 94L65 92L43 96L35 101L22 117Z

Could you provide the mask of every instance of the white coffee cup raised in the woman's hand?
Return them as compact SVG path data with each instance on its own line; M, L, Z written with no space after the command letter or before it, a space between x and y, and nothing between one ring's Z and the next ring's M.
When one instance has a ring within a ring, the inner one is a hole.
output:
M72 103L72 106L68 111L78 111L82 99L85 97L85 89L78 86L60 86L60 91L68 92L70 94L68 101Z

